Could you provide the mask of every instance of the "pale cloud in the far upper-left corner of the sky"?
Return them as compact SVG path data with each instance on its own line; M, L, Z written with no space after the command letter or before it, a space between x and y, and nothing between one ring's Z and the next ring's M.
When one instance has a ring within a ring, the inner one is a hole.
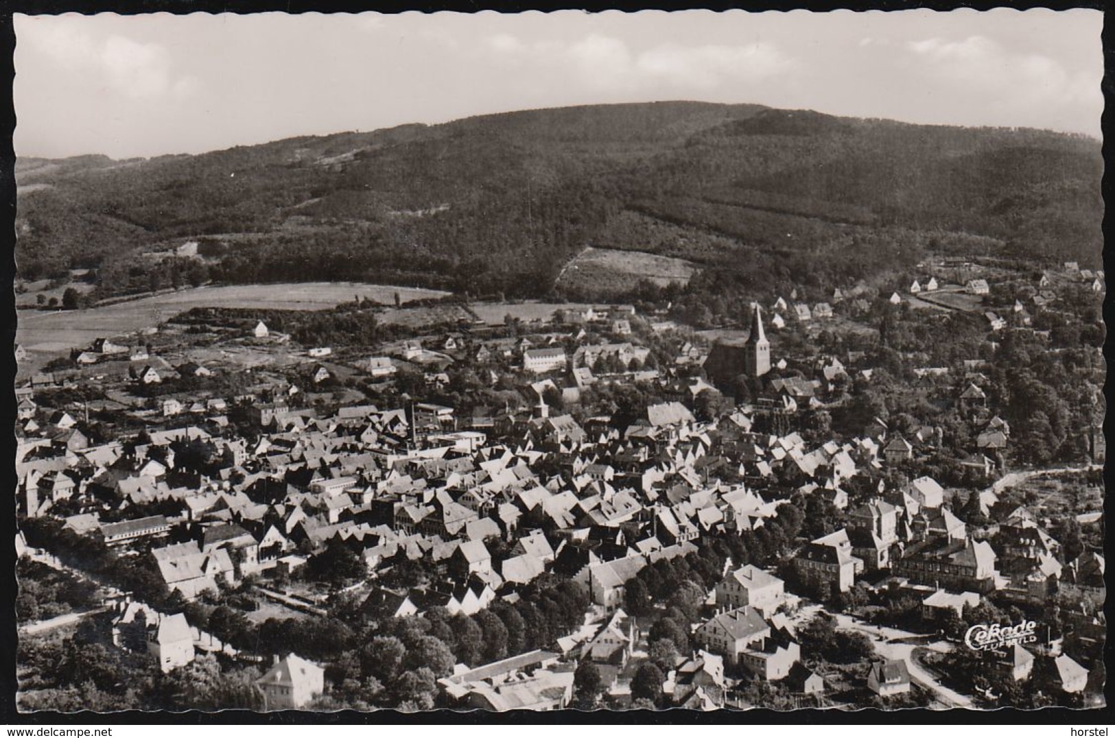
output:
M171 56L159 43L113 35L97 39L69 18L35 18L20 23L17 42L26 42L64 69L90 70L103 85L122 95L185 98L200 87L196 77L176 78Z

